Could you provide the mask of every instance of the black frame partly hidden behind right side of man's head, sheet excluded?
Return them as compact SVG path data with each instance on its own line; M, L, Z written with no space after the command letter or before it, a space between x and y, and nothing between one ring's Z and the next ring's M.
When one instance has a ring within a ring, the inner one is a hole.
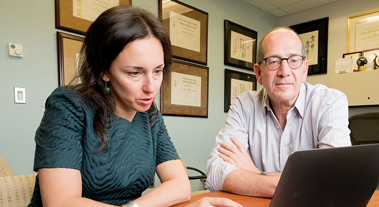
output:
M299 35L318 30L317 65L309 66L308 75L327 73L328 26L329 17L289 26Z

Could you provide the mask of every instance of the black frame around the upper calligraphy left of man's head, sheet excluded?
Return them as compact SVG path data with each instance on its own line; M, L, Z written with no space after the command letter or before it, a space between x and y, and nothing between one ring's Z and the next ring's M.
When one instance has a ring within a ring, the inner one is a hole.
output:
M231 57L232 39L231 32L238 33L253 38L252 45L252 62L236 59ZM254 70L256 62L256 44L258 33L252 29L246 28L229 20L224 20L224 65L234 66L242 69Z

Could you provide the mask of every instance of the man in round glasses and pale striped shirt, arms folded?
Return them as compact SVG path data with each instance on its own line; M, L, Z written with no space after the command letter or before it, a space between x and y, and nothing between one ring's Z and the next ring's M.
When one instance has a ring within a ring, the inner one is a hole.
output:
M263 88L244 92L230 106L207 162L206 188L272 197L292 151L351 145L346 96L306 83L305 58L291 29L263 37L254 65Z

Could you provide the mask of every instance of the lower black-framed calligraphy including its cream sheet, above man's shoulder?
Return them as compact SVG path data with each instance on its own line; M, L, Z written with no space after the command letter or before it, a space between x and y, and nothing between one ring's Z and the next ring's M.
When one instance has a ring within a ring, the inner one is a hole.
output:
M255 75L225 69L224 112L228 112L230 104L233 104L238 95L255 90Z

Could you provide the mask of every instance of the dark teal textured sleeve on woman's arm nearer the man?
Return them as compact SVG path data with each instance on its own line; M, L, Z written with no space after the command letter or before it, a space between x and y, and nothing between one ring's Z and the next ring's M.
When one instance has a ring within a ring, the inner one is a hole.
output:
M172 143L171 138L168 136L166 125L164 125L163 117L160 112L150 113L149 116L152 118L156 113L158 113L158 117L151 131L152 136L157 138L156 165L158 166L166 161L179 159L179 155L174 143Z

